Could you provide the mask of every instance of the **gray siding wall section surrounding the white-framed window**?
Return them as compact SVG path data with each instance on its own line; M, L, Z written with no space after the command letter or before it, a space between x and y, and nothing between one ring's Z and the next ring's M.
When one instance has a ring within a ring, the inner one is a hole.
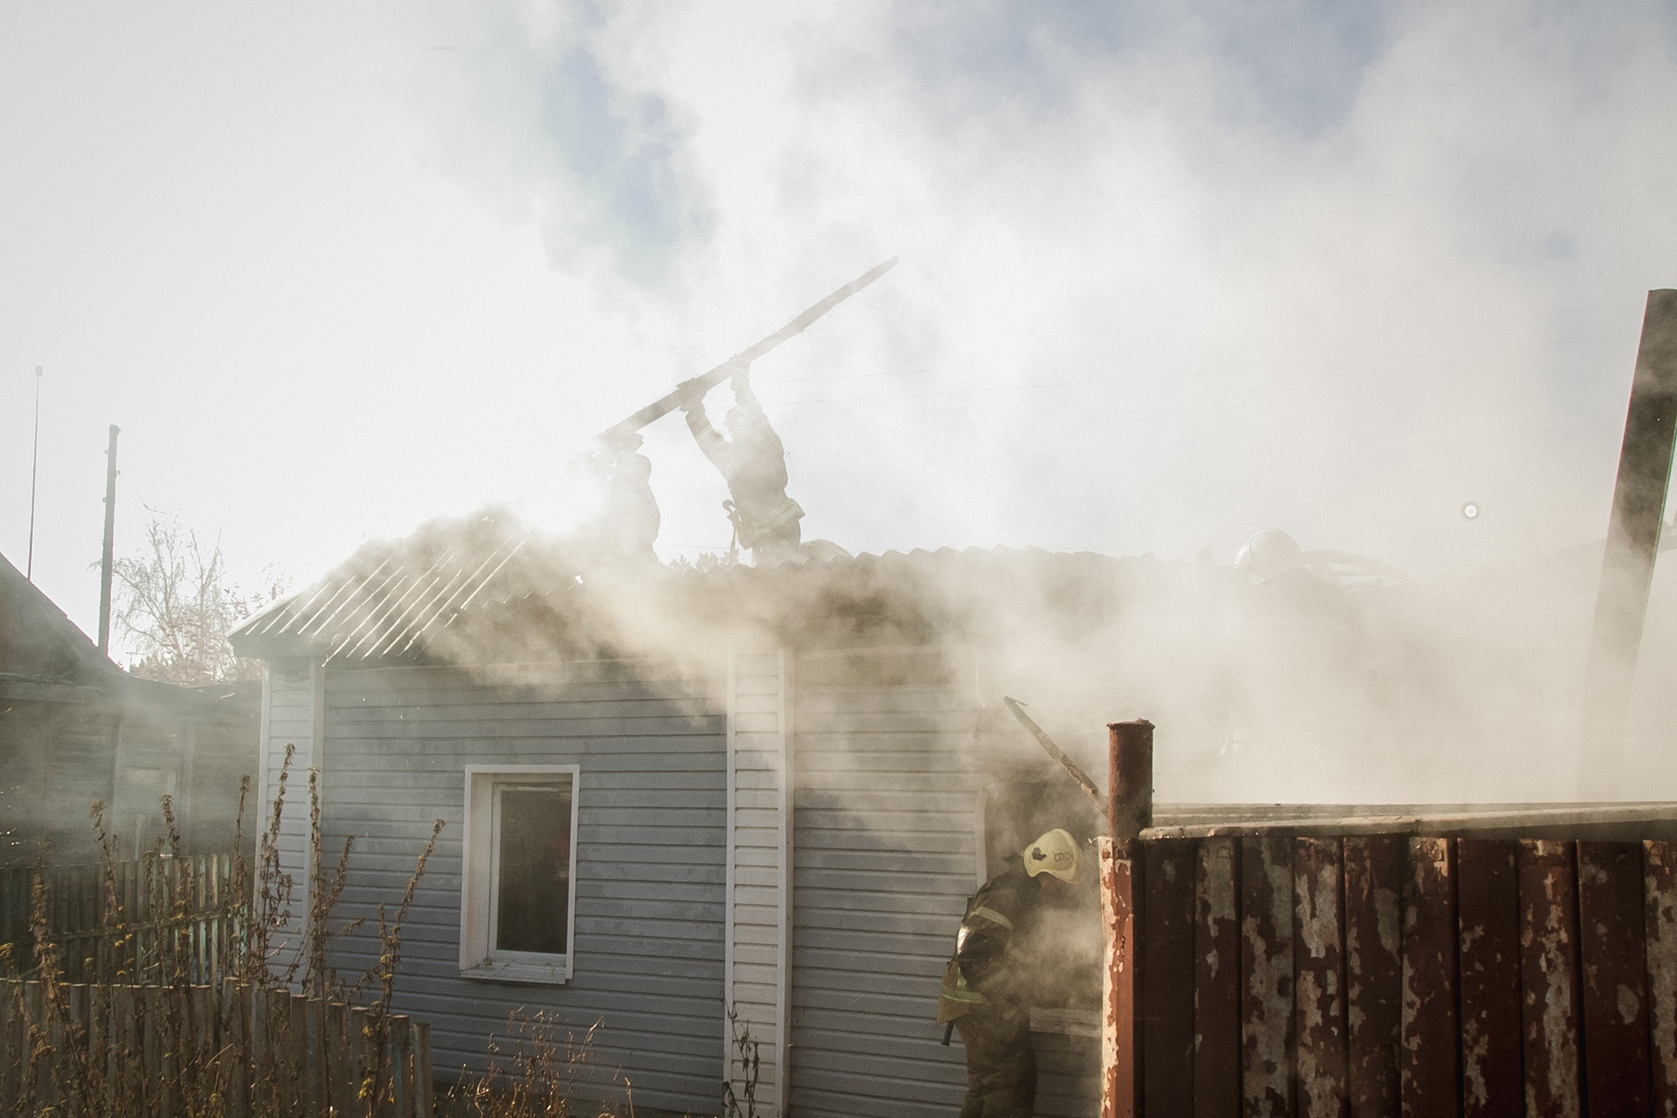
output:
M674 664L498 670L330 670L325 831L356 840L335 924L401 900L443 836L402 929L396 1009L431 1022L436 1071L483 1068L508 1014L548 1014L560 1038L595 1029L597 1083L624 1074L639 1106L709 1115L723 1074L726 682ZM466 764L577 764L574 977L565 986L459 977ZM376 960L362 930L334 960ZM597 1027L595 1027L597 1026ZM505 1044L503 1044L505 1048ZM505 1063L505 1058L503 1058Z

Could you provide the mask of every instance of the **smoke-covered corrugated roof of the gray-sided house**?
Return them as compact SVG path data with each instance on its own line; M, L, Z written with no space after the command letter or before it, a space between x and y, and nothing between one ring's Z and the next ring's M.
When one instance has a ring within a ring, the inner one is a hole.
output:
M488 662L696 640L793 647L1005 637L1011 619L1075 637L1142 587L1226 585L1196 563L1038 548L887 551L778 567L589 570L575 548L506 513L439 520L369 543L233 634L247 657L335 664ZM1201 595L1202 597L1202 595ZM699 649L701 650L701 649Z

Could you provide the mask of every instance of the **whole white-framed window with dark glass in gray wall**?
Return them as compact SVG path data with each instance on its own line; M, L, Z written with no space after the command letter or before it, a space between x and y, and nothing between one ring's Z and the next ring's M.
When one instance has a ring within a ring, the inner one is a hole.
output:
M577 766L468 766L459 972L508 982L572 974Z

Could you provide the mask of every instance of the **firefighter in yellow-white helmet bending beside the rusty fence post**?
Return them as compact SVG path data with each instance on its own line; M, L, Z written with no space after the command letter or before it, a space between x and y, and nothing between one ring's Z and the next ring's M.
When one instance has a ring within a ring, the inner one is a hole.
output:
M1077 880L1078 860L1077 840L1055 828L1010 858L1008 868L966 902L954 959L937 996L937 1021L954 1022L966 1046L961 1118L1031 1116L1031 940L1045 905Z

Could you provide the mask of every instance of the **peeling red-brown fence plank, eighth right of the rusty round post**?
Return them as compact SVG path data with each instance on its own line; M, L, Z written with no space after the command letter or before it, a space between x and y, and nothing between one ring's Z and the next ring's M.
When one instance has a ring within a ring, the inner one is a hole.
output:
M1519 843L1519 970L1526 1113L1578 1118L1578 882L1573 843Z

